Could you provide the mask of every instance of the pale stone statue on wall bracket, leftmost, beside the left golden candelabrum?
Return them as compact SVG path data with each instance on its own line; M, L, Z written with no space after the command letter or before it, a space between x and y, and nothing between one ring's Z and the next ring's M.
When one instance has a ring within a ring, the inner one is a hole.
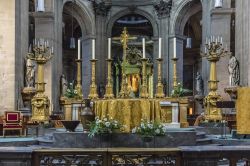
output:
M26 60L25 84L26 87L34 87L35 83L35 64L31 59Z

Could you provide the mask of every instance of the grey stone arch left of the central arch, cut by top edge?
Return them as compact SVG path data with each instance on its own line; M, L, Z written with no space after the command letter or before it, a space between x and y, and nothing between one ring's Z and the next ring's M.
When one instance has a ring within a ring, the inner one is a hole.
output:
M83 35L94 35L95 34L95 22L94 16L87 8L87 6L79 1L75 1L73 4L73 12L71 8L65 7L65 4L72 3L72 0L64 0L61 6L61 13L65 9L68 13L72 14L81 27Z

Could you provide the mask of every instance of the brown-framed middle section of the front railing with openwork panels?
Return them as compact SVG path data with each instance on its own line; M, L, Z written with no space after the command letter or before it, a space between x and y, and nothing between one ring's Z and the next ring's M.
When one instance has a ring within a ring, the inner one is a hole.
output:
M180 166L177 148L40 149L33 152L35 166Z

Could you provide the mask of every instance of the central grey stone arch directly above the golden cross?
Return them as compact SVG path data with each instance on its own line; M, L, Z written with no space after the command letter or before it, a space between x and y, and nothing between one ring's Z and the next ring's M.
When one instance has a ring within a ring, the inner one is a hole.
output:
M116 14L114 14L114 16L109 20L108 24L107 24L107 36L111 36L112 34L112 28L113 28L113 25L115 23L115 21L117 19L119 19L120 17L122 16L125 16L125 15L128 15L128 14L131 14L131 13L134 13L134 14L139 14L139 15L142 15L144 16L145 18L147 18L152 27L153 27L153 35L154 36L159 36L159 28L158 28L158 23L155 21L155 19L153 18L153 16L151 14L149 14L148 12L146 11L143 11L143 10L140 10L140 9L136 9L135 11L131 12L130 10L128 9L125 9L125 10L122 10Z

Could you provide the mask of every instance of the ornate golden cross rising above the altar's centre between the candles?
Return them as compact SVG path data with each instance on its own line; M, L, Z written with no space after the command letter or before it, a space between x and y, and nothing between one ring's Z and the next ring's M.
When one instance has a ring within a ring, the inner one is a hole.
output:
M120 37L114 37L114 40L120 40L123 47L123 58L126 59L127 48L128 48L128 40L135 40L137 37L130 37L127 31L127 27L123 28L122 34Z

